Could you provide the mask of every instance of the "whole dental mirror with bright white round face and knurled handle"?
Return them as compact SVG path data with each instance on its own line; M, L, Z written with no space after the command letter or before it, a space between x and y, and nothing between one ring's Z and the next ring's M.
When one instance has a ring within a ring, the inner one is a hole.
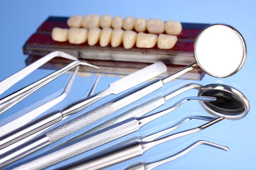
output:
M219 34L220 32L221 34ZM211 52L209 53L209 51ZM149 82L140 88L134 89L127 94L119 96L110 102L45 132L41 136L38 136L27 143L26 146L23 145L17 147L16 150L18 152L16 154L13 153L12 155L14 155L14 157L9 157L9 160L6 160L6 164L3 166L7 166L49 144L57 142L65 136L130 105L153 91L162 88L163 84L197 68L198 66L213 77L224 78L232 76L244 65L247 48L244 38L235 28L226 24L213 24L207 26L198 34L194 44L194 55L196 62L188 65L182 70L162 79L156 79ZM230 60L233 62L230 63ZM32 145L36 145L36 147L33 147L33 150L30 148Z

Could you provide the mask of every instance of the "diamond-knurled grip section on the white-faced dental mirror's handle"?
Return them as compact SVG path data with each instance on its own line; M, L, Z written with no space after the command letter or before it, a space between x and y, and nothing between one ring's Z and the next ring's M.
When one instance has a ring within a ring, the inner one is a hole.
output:
M86 113L81 114L80 116L71 119L70 121L59 125L58 127L53 128L45 133L49 138L50 144L64 138L65 136L70 135L71 133L76 132L77 130L90 125L99 119L104 118L105 116L110 115L116 111L116 108L113 107L114 102L107 102L103 105L100 105L93 110L90 110Z

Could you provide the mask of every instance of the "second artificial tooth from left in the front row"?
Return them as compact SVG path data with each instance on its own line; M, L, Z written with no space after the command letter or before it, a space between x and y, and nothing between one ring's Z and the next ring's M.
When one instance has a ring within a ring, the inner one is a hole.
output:
M70 28L68 30L68 41L70 44L82 44L87 40L88 30L86 28Z

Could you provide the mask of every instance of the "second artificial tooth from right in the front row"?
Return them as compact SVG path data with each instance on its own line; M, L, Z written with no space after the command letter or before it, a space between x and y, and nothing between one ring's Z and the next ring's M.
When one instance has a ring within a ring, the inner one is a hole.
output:
M143 32L139 32L137 35L136 46L138 48L152 48L156 45L156 43L156 34L145 34Z

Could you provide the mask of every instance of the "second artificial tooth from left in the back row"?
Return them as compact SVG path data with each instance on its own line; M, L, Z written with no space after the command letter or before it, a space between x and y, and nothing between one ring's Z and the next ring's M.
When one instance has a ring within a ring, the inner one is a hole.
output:
M100 20L100 17L97 14L85 15L82 20L82 27L87 29L99 28L99 20Z

